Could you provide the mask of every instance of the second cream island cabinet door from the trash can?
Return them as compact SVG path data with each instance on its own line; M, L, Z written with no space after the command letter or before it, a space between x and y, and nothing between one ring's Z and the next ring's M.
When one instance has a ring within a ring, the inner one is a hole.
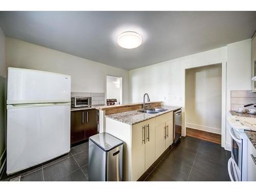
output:
M146 145L145 145L145 170L155 162L155 118L145 121L146 124Z

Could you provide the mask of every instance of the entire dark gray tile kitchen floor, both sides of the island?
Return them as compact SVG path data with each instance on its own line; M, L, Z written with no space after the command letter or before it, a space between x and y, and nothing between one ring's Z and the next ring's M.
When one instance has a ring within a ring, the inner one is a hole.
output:
M145 181L229 181L227 161L230 152L220 145L185 137L170 150ZM9 181L88 181L88 142L71 148L50 162L0 178Z

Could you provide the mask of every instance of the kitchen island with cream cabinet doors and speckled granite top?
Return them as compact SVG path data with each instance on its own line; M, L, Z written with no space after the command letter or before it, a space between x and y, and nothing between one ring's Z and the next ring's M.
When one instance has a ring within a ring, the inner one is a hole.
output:
M173 112L181 107L154 108L165 111L148 114L132 110L105 115L105 132L124 142L124 181L137 181L173 144Z

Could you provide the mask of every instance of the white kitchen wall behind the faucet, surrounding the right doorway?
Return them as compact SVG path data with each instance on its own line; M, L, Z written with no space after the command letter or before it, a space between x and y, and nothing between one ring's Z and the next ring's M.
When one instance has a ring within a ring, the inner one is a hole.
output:
M226 124L226 113L230 110L231 90L250 90L251 45L250 39L229 44L218 49L168 60L129 72L131 102L141 102L147 92L151 100L162 100L166 105L185 106L185 69L222 63L222 126ZM227 62L227 67L226 67ZM183 114L184 118L184 114ZM184 119L182 130L184 132ZM223 133L224 132L224 133ZM225 143L230 147L227 130ZM184 135L184 133L183 133ZM222 143L223 146L223 143Z

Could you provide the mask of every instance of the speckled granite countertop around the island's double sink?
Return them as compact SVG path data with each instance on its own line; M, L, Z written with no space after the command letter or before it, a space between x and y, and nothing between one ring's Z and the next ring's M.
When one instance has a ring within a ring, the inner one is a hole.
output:
M133 125L133 124L136 124L136 123L148 120L148 119L152 119L159 115L163 115L165 113L175 111L175 110L178 110L181 108L180 106L165 106L165 105L162 105L160 107L164 108L164 109L168 109L168 110L164 111L164 112L160 112L160 113L155 113L155 114L141 113L141 112L138 112L138 110L135 110L135 111L127 111L127 112L122 112L122 113L105 115L105 117L114 119L116 121L120 121L122 123Z

